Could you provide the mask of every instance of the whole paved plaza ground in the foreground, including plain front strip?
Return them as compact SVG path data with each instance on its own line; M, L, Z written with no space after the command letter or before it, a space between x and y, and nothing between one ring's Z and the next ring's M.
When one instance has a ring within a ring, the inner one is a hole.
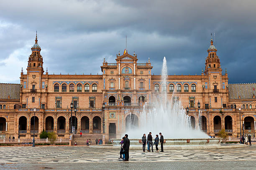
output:
M0 169L256 169L256 146L212 150L131 150L120 163L119 150L90 147L0 147Z

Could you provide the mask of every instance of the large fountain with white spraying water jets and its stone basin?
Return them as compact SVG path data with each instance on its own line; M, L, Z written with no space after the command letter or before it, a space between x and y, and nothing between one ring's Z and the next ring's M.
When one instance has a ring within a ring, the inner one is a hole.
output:
M161 132L166 139L165 145L168 146L220 144L221 138L209 138L206 133L201 131L201 111L198 113L195 127L191 126L191 119L176 96L176 87L174 87L171 98L168 97L166 90L168 84L166 58L164 57L161 91L155 93L155 96L152 97L154 100L150 104L143 105L142 112L134 114L130 110L125 110L125 115L128 114L125 133L129 135L131 146L139 145L141 147L139 140L143 133L147 136L149 132L152 132L153 138ZM113 139L114 145L119 145L119 142L119 140Z

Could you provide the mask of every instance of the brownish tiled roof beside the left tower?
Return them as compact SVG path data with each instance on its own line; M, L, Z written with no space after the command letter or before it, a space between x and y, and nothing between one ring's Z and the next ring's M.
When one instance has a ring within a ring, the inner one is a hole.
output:
M20 84L0 83L0 99L20 99Z

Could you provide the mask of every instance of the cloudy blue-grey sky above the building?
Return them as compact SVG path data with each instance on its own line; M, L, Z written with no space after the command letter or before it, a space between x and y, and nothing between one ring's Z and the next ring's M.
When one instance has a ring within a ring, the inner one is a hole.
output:
M200 74L215 32L229 83L256 82L255 0L0 0L0 82L19 83L38 31L49 74L102 74L118 51L160 74ZM25 70L26 72L26 70Z

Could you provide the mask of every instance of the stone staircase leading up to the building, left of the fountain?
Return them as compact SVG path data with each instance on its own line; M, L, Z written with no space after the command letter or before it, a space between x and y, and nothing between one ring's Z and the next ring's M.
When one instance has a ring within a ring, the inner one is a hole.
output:
M91 145L96 145L95 139L102 139L102 134L83 134L82 137L80 137L79 134L73 135L71 144L74 145L75 142L77 142L77 145L86 145L86 140L91 139ZM103 139L102 139L103 140Z

